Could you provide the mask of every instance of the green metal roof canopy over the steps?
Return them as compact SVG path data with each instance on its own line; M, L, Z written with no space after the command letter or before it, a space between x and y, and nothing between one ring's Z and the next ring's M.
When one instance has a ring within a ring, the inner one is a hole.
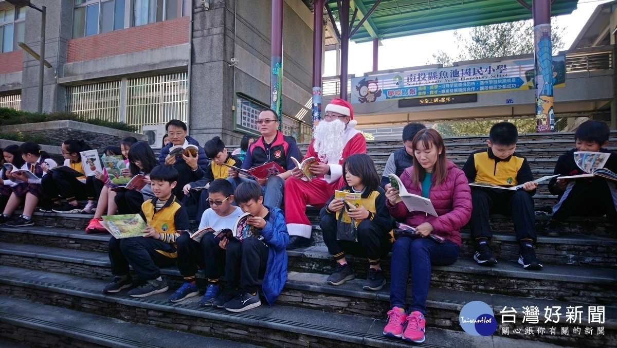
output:
M531 6L531 0L525 1ZM554 0L551 15L572 13L577 2ZM350 0L350 17L358 9L354 27L373 4L375 0ZM336 0L329 0L326 6L338 20ZM373 38L398 38L531 18L531 10L516 0L383 0L351 41L363 43Z

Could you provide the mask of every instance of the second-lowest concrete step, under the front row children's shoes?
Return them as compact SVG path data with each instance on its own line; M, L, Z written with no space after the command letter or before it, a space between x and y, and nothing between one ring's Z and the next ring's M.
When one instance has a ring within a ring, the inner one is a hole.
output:
M175 331L190 331L253 344L285 347L409 347L383 337L382 319L321 310L261 305L243 313L200 308L193 297L181 304L167 302L168 293L143 299L101 293L104 280L1 267L0 286L9 297L30 297L40 304L78 309L133 323ZM520 336L520 338L524 338ZM184 345L183 345L184 346ZM471 336L461 331L427 328L425 347L557 347L495 334Z

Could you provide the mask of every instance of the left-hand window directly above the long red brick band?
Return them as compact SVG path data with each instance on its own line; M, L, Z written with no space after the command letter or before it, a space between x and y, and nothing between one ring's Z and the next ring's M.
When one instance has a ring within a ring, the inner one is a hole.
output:
M124 28L126 0L75 0L73 38Z

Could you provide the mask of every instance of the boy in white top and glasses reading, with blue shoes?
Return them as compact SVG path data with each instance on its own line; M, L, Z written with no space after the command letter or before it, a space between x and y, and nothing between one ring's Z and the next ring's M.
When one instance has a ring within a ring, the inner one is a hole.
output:
M216 179L210 183L210 188L207 192L207 201L210 204L210 209L205 210L203 213L199 223L199 230L207 227L212 228L214 231L226 228L233 229L234 223L242 215L242 210L235 205L231 205L231 202L234 200L231 183L225 179ZM205 289L204 297L199 301L199 305L201 307L210 306L220 295L219 278L225 269L225 250L218 246L219 241L214 237L215 233L207 233L202 236L200 242L197 242L191 239L189 233L185 232L176 239L178 270L180 270L184 277L184 284L169 297L169 302L180 302L199 294L199 288L197 288L195 283L197 267L205 270L205 276L209 283ZM230 293L230 291L225 293ZM233 299L233 296L225 300L221 305L230 299Z

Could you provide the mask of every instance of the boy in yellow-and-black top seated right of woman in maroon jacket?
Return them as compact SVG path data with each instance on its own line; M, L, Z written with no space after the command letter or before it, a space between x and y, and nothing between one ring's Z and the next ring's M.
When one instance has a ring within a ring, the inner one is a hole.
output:
M497 260L492 254L489 239L492 238L489 213L500 212L512 216L520 254L518 263L526 270L541 270L533 245L536 242L536 218L534 199L537 183L534 183L527 160L516 153L518 130L509 122L492 126L488 148L473 152L463 166L470 183L474 181L499 186L524 184L516 191L471 186L471 238L478 243L473 259L479 265L493 266Z

